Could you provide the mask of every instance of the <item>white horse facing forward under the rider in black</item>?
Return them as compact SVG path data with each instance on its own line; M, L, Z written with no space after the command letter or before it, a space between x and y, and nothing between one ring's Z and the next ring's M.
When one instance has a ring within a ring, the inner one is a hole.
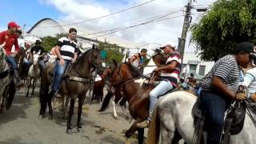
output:
M30 93L30 86L33 87L32 94L34 94L34 88L36 86L36 82L38 81L38 78L40 78L40 68L39 68L39 58L42 56L39 55L40 51L36 54L33 54L33 65L30 66L28 76L26 78L26 97L29 96ZM33 80L33 84L31 85L31 82Z

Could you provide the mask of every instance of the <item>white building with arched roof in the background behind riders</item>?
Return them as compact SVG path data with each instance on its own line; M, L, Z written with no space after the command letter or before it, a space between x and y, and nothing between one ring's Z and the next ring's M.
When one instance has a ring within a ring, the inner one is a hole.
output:
M62 24L62 22L57 22L51 18L43 18L40 21L38 21L36 24L34 24L34 26L30 28L30 30L27 31L27 36L38 38L43 38L46 36L54 37L56 34L67 33L70 27L74 27L78 30L78 42L80 42L82 46L85 48L91 47L92 43L97 43L98 41L108 42L110 44L117 44L118 46L127 49L127 51L138 50L138 46L140 45L138 43L128 42L126 40L110 36L95 38L94 35L94 37L92 37L91 35L91 33L94 32L92 30L86 30L85 27L78 25L66 26L65 24Z

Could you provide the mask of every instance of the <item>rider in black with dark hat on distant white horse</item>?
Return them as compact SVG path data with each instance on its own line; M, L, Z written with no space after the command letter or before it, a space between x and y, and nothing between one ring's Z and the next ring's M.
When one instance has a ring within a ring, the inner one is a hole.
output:
M33 58L33 54L39 54L39 55L42 55L43 53L46 53L46 50L44 50L44 48L41 46L41 41L40 40L36 40L35 41L35 46L31 48L30 50L30 54L32 55L32 58ZM39 62L38 62L39 66L40 66L40 69L41 71L45 69L46 67L46 64L43 60L43 58L40 58Z

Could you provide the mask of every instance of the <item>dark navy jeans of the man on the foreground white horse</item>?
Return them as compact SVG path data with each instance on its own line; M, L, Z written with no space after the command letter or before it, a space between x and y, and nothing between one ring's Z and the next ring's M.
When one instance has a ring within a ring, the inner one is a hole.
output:
M206 114L207 144L218 144L224 126L224 114L230 106L230 100L222 94L203 92L200 96L202 110Z

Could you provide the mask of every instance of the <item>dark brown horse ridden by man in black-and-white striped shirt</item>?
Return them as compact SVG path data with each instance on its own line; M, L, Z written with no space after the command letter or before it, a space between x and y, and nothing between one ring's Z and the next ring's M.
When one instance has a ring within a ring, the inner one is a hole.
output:
M71 64L67 74L64 74L62 78L62 85L59 93L65 98L66 97L66 107L64 114L67 111L67 104L70 100L70 110L68 121L66 125L66 133L71 133L71 119L74 114L74 102L78 98L78 121L77 127L78 131L82 128L81 125L81 114L82 114L82 104L86 98L86 92L90 86L90 67L100 66L100 54L97 48L86 51L78 58L76 62ZM53 79L54 65L50 64L46 66L46 69L42 71L41 86L40 86L40 104L41 108L39 111L39 118L46 113L46 106L48 104L49 108L49 118L53 118L53 110L51 106L51 99L53 94L49 94L49 86Z

